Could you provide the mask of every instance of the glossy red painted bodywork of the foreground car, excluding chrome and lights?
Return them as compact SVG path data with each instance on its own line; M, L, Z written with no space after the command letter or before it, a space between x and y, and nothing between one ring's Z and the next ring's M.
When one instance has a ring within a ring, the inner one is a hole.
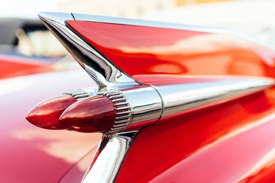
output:
M188 84L233 75L274 78L274 50L227 32L74 17L66 26L139 83ZM2 182L81 181L97 152L87 172L93 171L101 152L96 151L99 133L49 131L24 118L42 100L91 86L88 75L66 71L6 79L0 85L5 82L26 83L1 95ZM274 182L274 101L269 87L133 126L139 132L110 182Z

